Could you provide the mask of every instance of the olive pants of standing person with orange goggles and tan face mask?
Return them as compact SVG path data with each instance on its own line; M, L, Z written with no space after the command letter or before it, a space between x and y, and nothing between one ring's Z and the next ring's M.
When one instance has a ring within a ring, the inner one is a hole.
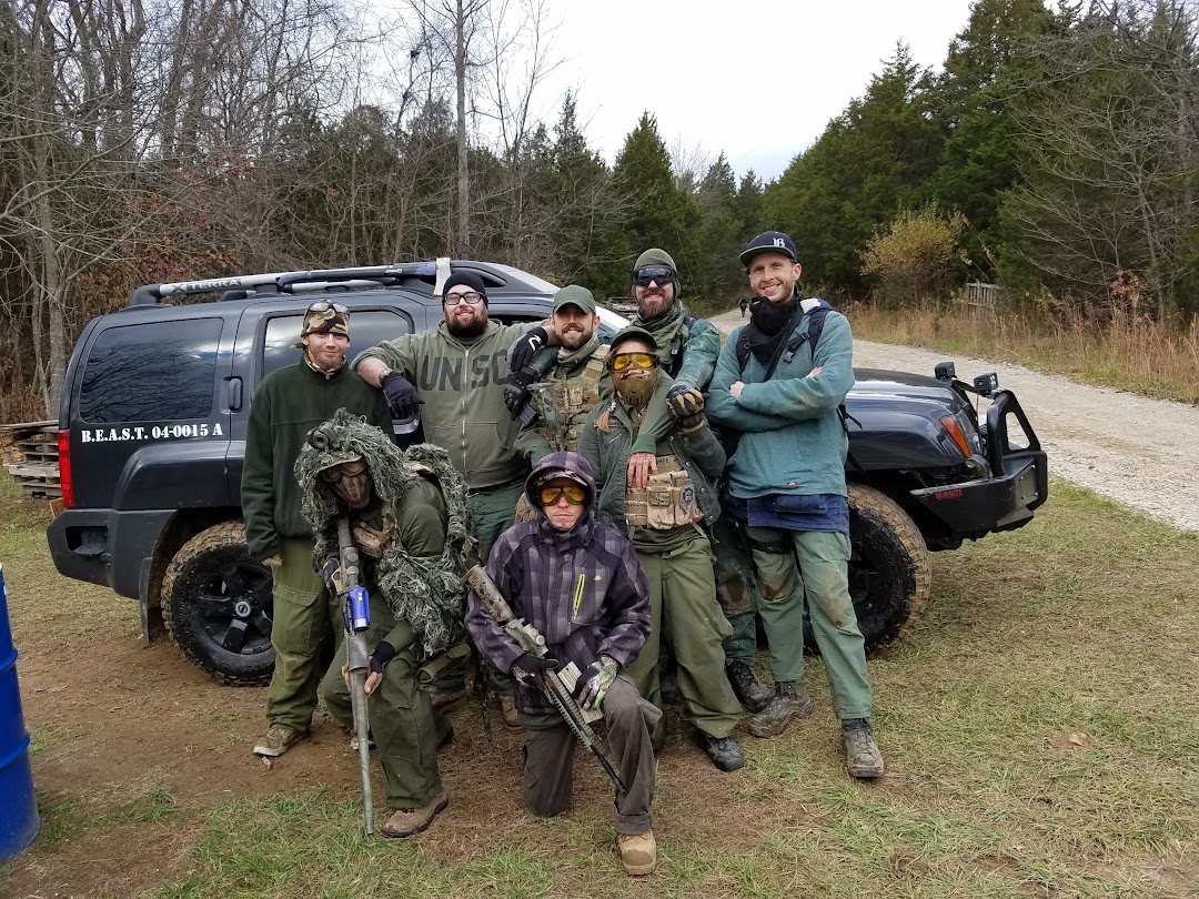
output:
M716 580L706 537L664 554L637 550L650 581L650 636L628 666L638 692L662 707L662 640L679 665L679 693L699 730L727 737L741 717L741 702L724 672L721 640L729 635L716 602Z

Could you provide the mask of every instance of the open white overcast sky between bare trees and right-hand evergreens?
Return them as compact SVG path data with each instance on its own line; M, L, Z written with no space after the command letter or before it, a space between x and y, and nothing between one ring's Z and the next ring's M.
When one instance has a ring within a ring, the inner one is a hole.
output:
M723 150L770 180L864 93L902 41L945 61L971 0L549 0L564 59L542 93L578 90L588 143L611 162L643 110L667 147Z

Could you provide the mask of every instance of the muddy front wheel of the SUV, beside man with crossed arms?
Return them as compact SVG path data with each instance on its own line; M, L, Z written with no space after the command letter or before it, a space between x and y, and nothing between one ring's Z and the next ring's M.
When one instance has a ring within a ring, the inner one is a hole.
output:
M898 639L932 595L928 549L916 524L886 494L849 484L849 593L873 652Z

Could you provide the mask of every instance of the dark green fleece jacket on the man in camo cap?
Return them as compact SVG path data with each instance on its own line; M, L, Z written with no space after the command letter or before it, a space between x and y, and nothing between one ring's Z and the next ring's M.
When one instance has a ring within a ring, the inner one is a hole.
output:
M241 471L241 512L246 542L254 559L279 551L279 539L311 537L300 514L295 464L308 432L338 409L364 416L391 434L391 412L382 391L349 366L331 375L305 362L271 372L254 391L246 426L246 461Z

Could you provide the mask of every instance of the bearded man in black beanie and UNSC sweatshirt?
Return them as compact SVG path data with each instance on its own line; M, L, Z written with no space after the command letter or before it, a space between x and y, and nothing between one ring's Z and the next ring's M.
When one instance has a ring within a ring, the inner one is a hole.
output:
M445 321L435 331L384 340L359 354L354 367L378 386L397 418L417 411L424 436L450 453L465 475L475 537L486 559L516 517L529 461L516 450L518 424L504 403L508 349L536 332L538 345L556 343L553 326L500 325L488 316L487 286L472 271L451 274L442 286ZM434 684L434 702L447 706L465 696L463 659ZM504 723L516 728L512 686L496 683Z

